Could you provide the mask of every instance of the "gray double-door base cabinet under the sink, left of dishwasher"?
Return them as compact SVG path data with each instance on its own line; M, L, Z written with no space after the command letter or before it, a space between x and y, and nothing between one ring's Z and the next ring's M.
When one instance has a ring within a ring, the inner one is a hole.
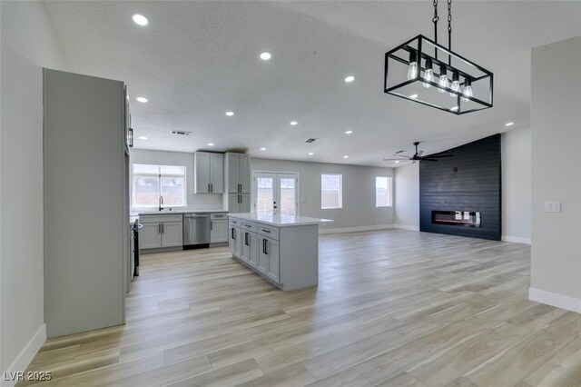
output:
M144 253L148 249L182 247L182 214L142 215L139 221L143 224L139 231L139 248Z

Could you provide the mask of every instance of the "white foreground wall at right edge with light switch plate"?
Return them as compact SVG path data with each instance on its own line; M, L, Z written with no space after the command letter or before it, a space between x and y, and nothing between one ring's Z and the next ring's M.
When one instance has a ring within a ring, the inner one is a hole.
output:
M529 297L581 313L581 78L568 76L579 63L581 37L533 49Z

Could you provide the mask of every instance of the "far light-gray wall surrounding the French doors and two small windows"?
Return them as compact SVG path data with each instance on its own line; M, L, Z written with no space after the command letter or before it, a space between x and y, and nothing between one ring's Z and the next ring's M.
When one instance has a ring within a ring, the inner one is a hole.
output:
M251 158L251 170L299 174L300 215L332 219L327 228L391 226L393 207L375 206L375 177L393 176L392 168L305 163ZM342 174L343 208L320 208L320 174Z

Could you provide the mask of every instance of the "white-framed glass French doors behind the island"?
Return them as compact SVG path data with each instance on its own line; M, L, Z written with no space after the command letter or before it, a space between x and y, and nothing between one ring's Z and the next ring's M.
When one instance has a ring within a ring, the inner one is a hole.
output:
M258 214L298 215L299 175L254 173L254 211Z

